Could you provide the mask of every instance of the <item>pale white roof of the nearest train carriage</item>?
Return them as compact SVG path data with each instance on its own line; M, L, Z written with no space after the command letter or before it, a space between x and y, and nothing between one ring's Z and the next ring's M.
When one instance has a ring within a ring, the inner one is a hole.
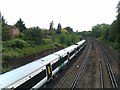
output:
M17 82L18 80L22 79L23 77L28 76L32 72L42 68L43 66L45 66L46 64L50 63L51 61L57 58L59 58L58 55L50 54L36 61L28 63L24 66L21 66L19 68L16 68L9 72L1 74L0 75L0 88L7 87L11 83Z

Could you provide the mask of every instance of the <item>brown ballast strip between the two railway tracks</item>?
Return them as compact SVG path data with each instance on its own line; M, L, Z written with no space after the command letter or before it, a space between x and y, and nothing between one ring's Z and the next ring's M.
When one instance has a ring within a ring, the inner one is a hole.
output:
M95 47L96 45L93 43L93 41L91 42L92 49L88 56L86 69L81 78L79 78L75 88L99 88L103 86L100 57L97 54L97 49ZM96 61L96 59L98 59L98 61Z

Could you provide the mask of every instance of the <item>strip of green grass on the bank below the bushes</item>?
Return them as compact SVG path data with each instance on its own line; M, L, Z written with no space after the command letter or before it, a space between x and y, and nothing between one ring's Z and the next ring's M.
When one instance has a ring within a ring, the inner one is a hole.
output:
M25 57L28 55L32 55L38 52L42 52L48 49L56 48L53 44L47 44L47 45L39 45L35 47L26 47L26 48L16 48L16 49L8 49L4 50L2 54L2 60L3 61L10 61L15 60L17 58Z

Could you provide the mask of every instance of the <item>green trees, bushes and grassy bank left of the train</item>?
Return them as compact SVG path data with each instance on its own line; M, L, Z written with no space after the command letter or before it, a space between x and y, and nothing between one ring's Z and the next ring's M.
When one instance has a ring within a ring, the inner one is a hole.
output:
M57 28L54 28L53 21L49 25L49 29L27 28L20 18L12 25L20 33L12 37L9 26L2 16L3 61L15 60L50 48L67 47L80 40L70 26L62 28L62 25L58 23Z

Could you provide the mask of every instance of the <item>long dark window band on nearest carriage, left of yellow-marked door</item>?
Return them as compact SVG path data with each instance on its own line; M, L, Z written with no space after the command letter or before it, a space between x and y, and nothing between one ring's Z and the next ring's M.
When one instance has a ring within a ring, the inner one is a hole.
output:
M31 78L30 80L26 81L25 83L17 87L16 89L20 89L20 88L30 89L45 77L46 77L46 70L43 70L42 72Z

